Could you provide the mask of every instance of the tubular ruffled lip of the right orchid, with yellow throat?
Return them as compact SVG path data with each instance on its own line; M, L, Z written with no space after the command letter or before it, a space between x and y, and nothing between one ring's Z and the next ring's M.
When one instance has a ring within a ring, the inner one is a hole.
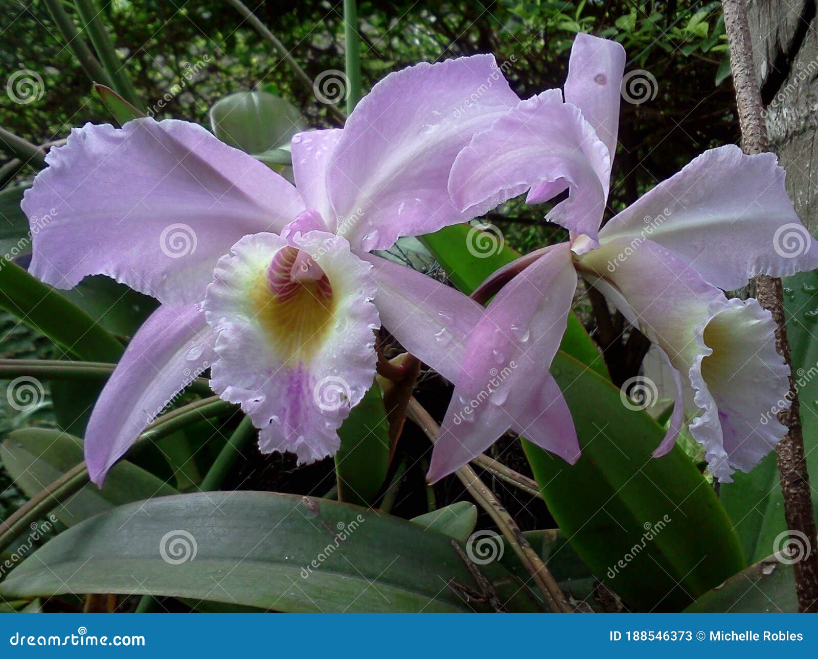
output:
M579 263L585 276L596 272L618 289L642 332L690 378L702 410L690 433L711 473L730 482L783 437L775 411L789 406L789 369L775 351L770 313L755 300L727 300L694 265L651 240L633 247L627 239L606 241Z

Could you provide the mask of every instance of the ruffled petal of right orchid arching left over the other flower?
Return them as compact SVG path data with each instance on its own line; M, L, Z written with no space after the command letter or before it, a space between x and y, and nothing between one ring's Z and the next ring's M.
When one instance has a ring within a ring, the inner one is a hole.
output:
M449 192L471 217L531 190L528 203L541 203L569 188L546 219L588 235L589 249L605 211L610 178L608 147L575 105L558 89L521 101L475 136L457 156Z

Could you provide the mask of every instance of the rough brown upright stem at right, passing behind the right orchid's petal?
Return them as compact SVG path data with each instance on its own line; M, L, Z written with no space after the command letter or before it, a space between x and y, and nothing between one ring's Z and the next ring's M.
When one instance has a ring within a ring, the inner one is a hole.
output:
M736 105L743 149L748 154L763 153L770 148L766 123L762 113L762 97L756 83L753 47L743 0L722 0L727 41L730 43L730 67L733 71ZM775 447L781 491L784 494L784 517L793 533L807 538L811 549L793 565L798 608L802 612L818 612L818 541L812 509L810 477L804 455L804 438L798 403L798 388L793 375L793 360L789 352L784 317L784 298L779 278L757 276L758 302L771 312L775 321L775 348L789 367L789 409L782 410L778 419L787 434Z

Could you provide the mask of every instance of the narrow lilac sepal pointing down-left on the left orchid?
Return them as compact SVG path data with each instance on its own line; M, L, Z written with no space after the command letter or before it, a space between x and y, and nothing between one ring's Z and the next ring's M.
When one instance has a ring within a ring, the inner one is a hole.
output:
M195 304L161 306L134 334L88 420L85 461L92 482L133 445L147 424L215 359L215 336Z

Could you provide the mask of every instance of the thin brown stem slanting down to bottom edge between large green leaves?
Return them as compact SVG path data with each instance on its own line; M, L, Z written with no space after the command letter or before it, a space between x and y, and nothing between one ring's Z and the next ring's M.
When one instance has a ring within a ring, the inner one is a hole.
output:
M437 441L438 424L435 423L434 419L429 415L429 412L414 398L409 401L407 416L418 424L432 443ZM551 610L555 613L571 612L568 598L566 598L565 594L560 590L560 586L557 584L554 576L551 575L551 572L549 572L546 564L542 562L542 558L540 558L539 554L528 544L528 541L525 540L523 536L523 531L520 531L517 526L517 522L515 522L514 518L503 508L503 505L497 500L494 493L485 486L478 475L474 473L474 469L466 465L456 471L456 476L460 478L465 489L469 491L469 494L472 495L474 500L477 501L480 507L483 508L492 520L494 520L494 523L497 524L503 536L506 537L506 541L510 547L514 549L515 554L517 554L520 563L523 563L524 567L531 574L534 583L537 584L537 588L546 599Z

